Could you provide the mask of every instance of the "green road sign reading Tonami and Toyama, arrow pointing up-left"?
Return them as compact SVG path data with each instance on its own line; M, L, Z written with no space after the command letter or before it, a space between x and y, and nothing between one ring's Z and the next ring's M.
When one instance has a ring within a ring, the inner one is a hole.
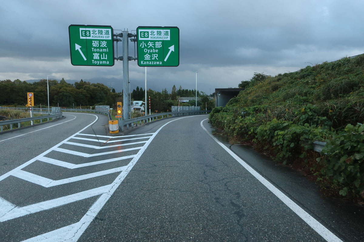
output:
M70 25L71 63L75 66L113 66L111 26Z

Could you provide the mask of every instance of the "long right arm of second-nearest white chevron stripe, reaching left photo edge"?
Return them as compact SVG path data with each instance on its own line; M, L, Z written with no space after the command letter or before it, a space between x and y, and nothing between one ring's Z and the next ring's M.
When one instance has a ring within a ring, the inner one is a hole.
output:
M28 205L28 206L24 206L24 207L16 206L15 208L12 208L11 210L9 210L5 215L0 215L0 222L4 222L4 221L11 220L14 218L19 218L21 216L40 212L43 210L56 208L56 207L59 207L59 206L65 205L65 204L69 204L71 202L80 201L80 200L83 200L83 199L86 199L89 197L98 196L102 193L107 192L108 190L110 190L110 188L111 188L110 185L100 186L98 188L93 188L90 190L86 190L83 192L71 194L68 196L60 197L60 198L55 198L55 199L48 200L48 201L38 202L36 204L32 204L32 205Z

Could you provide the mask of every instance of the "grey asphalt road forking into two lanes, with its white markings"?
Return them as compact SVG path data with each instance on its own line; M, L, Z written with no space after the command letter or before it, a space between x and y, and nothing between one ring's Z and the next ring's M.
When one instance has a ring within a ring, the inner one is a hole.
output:
M0 241L364 241L361 207L215 140L206 115L117 135L67 115L0 135Z

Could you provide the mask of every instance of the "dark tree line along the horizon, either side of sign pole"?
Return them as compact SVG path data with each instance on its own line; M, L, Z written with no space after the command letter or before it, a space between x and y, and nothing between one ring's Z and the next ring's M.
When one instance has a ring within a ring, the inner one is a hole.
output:
M123 93L116 93L115 89L110 90L109 87L102 83L90 83L87 81L75 82L74 84L67 83L64 78L59 82L57 80L48 80L49 85L49 101L50 106L59 107L90 107L94 105L109 105L116 108L116 102L123 102ZM47 79L28 83L16 79L11 81L9 79L0 81L0 105L3 106L25 106L27 104L27 93L34 93L35 107L40 104L46 107L48 104L47 95ZM195 90L182 89L179 86L177 90L175 85L172 87L172 92L168 93L167 89L159 91L147 90L147 109L150 107L152 112L167 112L171 110L171 106L178 106L178 97L194 97ZM211 110L214 107L214 101L200 91L197 91L199 101L197 106L201 109ZM131 92L131 100L141 100L145 103L145 91L137 87ZM195 106L195 100L180 103L181 106Z

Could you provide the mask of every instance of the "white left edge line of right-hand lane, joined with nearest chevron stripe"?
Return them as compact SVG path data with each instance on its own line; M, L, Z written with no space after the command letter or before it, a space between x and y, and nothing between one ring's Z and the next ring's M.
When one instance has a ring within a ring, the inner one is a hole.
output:
M178 119L183 118L190 118L193 116L186 116ZM94 204L92 204L91 208L87 211L87 213L81 218L81 220L77 223L73 223L71 225L62 227L60 229L56 229L53 231L50 231L48 233L44 233L41 235L37 235L35 237L29 238L23 242L63 242L63 241L69 241L69 242L76 242L83 232L87 229L88 225L94 220L96 215L100 212L100 210L103 208L103 206L106 204L106 202L109 200L109 198L112 196L112 194L115 192L115 190L119 187L121 182L125 179L125 177L128 175L128 173L131 171L131 169L134 167L135 163L139 160L139 158L142 156L144 151L147 149L151 141L154 139L154 137L158 134L159 131L162 130L163 127L165 127L167 124L178 120L174 119L169 121L168 123L163 124L162 127L160 127L157 132L151 136L151 138L147 141L147 143L143 146L143 148L137 153L137 155L130 161L130 163L127 165L127 168L120 173L118 177L110 184L112 188L109 192L102 194L98 200Z

